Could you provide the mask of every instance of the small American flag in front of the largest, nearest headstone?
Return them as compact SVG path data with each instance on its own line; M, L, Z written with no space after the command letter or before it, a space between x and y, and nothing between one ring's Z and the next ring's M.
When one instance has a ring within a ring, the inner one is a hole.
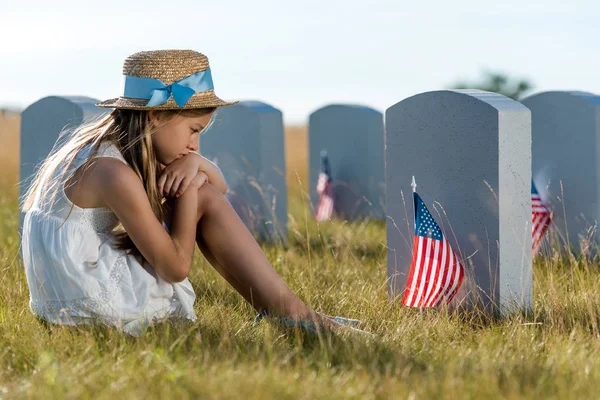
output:
M416 192L413 193L413 200L415 241L402 304L409 307L437 307L452 300L465 272Z

